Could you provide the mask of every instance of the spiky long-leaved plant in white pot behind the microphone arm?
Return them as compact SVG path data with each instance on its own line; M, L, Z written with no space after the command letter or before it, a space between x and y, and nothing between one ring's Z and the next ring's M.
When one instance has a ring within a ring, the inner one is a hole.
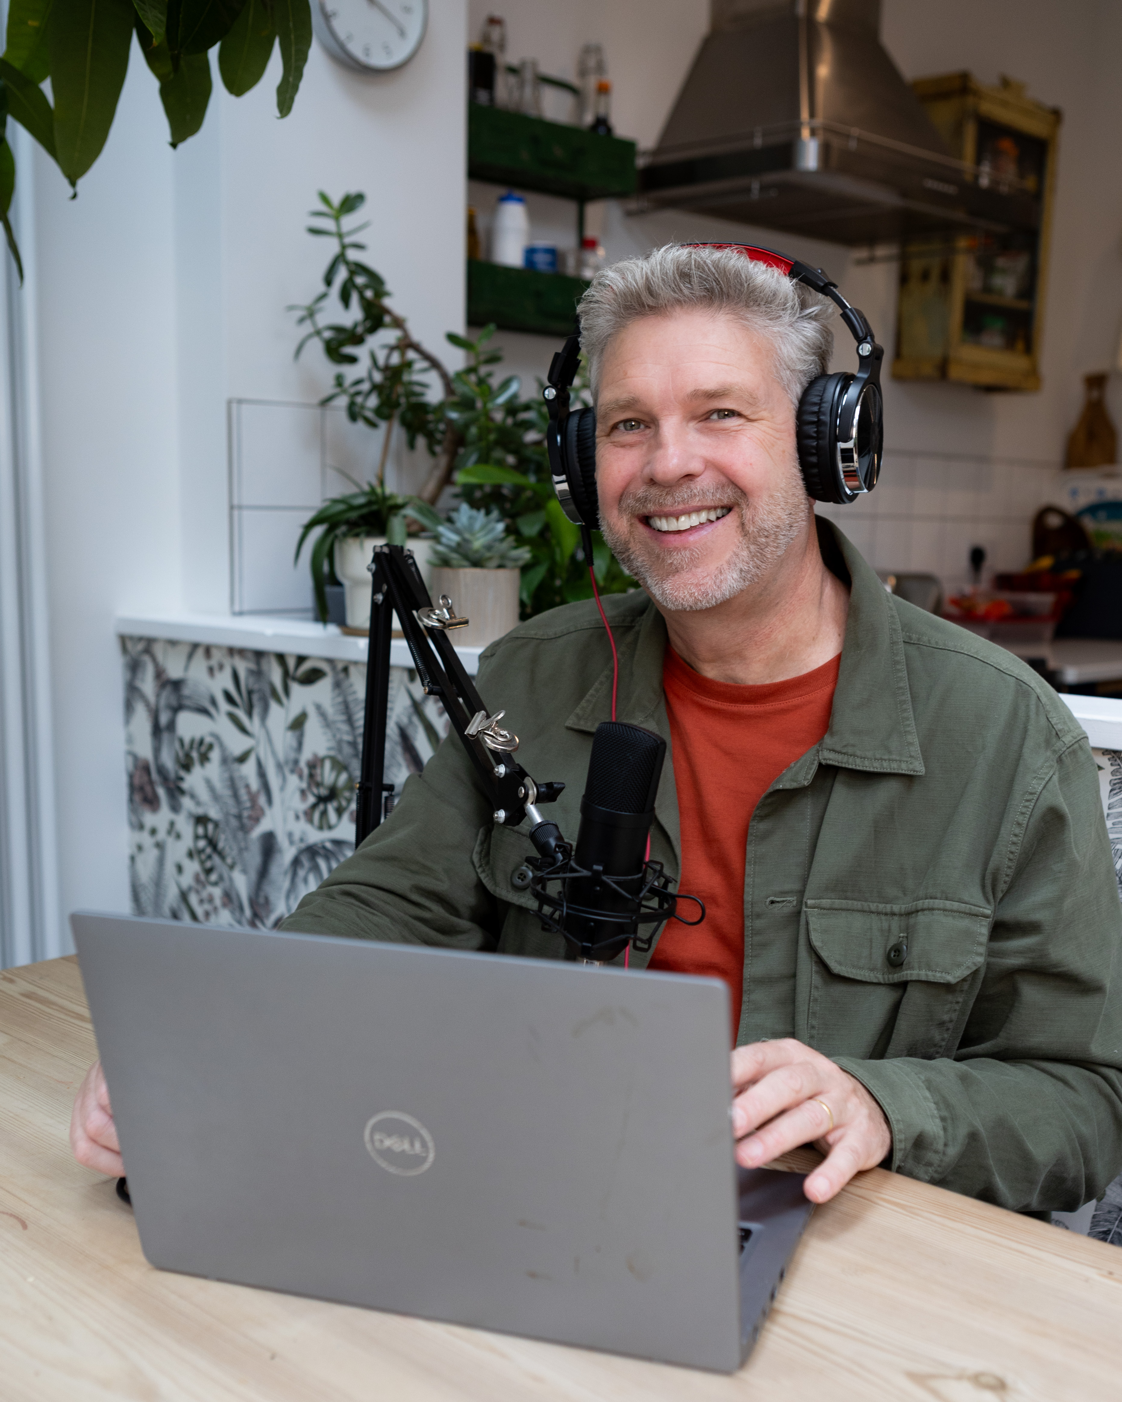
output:
M352 478L353 481L353 478ZM390 541L405 544L408 505L404 496L386 489L383 482L367 482L344 496L332 496L304 522L296 543L296 559L311 531L320 531L311 547L311 583L316 589L316 611L327 622L327 587L341 583L346 599L346 627L359 632L370 627L370 575L366 566L374 545Z

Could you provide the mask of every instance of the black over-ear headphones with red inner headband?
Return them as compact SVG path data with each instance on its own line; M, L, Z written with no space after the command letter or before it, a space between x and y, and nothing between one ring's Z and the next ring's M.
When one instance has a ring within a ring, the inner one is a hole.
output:
M734 250L755 262L778 268L791 282L804 282L837 303L842 320L857 342L857 374L849 370L820 374L806 386L795 419L798 461L806 492L818 502L849 503L871 492L881 472L884 446L881 360L885 353L864 313L846 301L820 268L784 258L770 248L752 244L684 247ZM569 388L579 360L578 334L569 336L553 358L541 393L550 411L550 471L561 509L575 524L595 529L600 519L596 503L596 411L569 408Z

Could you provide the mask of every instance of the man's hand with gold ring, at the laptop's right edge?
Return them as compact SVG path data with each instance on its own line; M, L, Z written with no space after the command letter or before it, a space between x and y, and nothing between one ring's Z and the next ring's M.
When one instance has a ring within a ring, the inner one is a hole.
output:
M818 1144L826 1159L806 1179L812 1203L827 1203L892 1148L884 1110L864 1085L792 1037L736 1047L732 1087L736 1162L759 1168L799 1144Z

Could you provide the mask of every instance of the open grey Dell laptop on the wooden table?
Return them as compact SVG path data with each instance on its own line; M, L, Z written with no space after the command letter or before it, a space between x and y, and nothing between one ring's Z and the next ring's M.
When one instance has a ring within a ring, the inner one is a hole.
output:
M735 1371L811 1214L717 979L79 913L161 1270Z

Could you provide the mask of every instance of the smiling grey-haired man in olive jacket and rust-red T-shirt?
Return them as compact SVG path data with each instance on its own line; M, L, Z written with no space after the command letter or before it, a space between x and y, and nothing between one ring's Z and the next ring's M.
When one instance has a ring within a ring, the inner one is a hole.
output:
M1086 736L1008 653L889 597L815 520L795 409L829 365L816 294L734 251L662 248L581 304L604 538L645 593L606 601L619 718L670 743L651 857L704 897L649 967L734 1007L745 1165L877 1164L1021 1211L1122 1166L1122 910ZM574 836L611 658L595 607L520 625L480 691L568 788ZM285 928L561 958L457 742ZM642 965L637 956L634 963ZM121 1172L97 1070L83 1162Z

